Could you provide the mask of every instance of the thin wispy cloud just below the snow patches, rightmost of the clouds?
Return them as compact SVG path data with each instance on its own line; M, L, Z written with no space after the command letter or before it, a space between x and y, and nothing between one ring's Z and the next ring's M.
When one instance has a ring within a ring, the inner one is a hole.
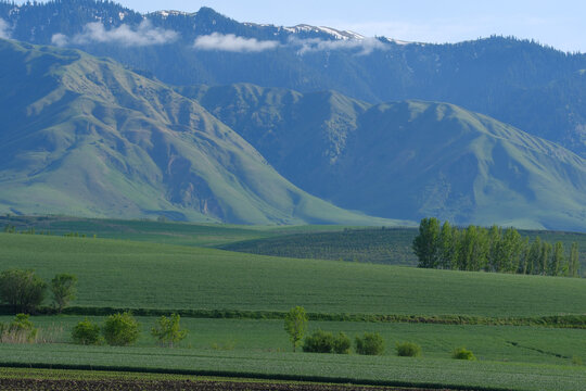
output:
M289 41L289 45L297 47L297 52L300 54L316 51L354 50L358 55L367 55L372 53L374 50L384 50L386 48L386 46L377 38L339 40L293 38Z

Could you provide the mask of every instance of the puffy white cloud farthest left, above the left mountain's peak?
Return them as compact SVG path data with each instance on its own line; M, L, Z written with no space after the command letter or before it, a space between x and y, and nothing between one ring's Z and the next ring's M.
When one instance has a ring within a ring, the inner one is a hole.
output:
M111 29L105 29L103 24L94 22L88 23L80 34L76 34L71 38L63 34L55 34L51 38L51 42L56 46L118 43L130 47L165 45L176 41L178 38L179 34L177 31L153 27L149 21L143 21L137 28L123 24Z

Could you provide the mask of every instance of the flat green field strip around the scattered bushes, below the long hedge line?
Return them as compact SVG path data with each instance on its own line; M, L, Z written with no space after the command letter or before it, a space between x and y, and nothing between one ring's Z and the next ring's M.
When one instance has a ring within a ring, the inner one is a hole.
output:
M86 317L35 316L40 329L39 340L72 343L73 327ZM104 317L88 317L100 324ZM150 328L155 317L137 317L141 336L136 346L154 348ZM0 321L9 321L2 316ZM233 352L290 352L289 337L282 320L268 319L194 319L182 317L188 338L183 349ZM345 332L352 340L364 332L379 332L386 341L384 355L393 356L395 343L415 342L422 348L422 357L449 358L453 351L466 346L480 361L572 365L586 352L586 330L517 326L455 326L433 324L380 324L359 321L309 321L308 333L315 330ZM577 360L577 358L576 358Z

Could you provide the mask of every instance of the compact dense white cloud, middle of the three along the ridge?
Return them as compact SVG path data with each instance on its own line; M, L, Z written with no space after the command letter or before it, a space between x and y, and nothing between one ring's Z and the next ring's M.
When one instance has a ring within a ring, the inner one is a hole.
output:
M195 49L200 50L220 50L230 52L262 52L272 50L279 47L278 41L258 40L256 38L237 37L233 34L214 33L207 36L201 36L193 43Z

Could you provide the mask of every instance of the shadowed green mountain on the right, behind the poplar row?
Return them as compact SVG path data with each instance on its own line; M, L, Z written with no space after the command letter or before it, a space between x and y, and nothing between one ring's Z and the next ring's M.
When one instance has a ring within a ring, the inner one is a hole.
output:
M295 185L343 207L406 219L586 229L584 159L456 105L369 105L336 92L250 85L180 91Z

